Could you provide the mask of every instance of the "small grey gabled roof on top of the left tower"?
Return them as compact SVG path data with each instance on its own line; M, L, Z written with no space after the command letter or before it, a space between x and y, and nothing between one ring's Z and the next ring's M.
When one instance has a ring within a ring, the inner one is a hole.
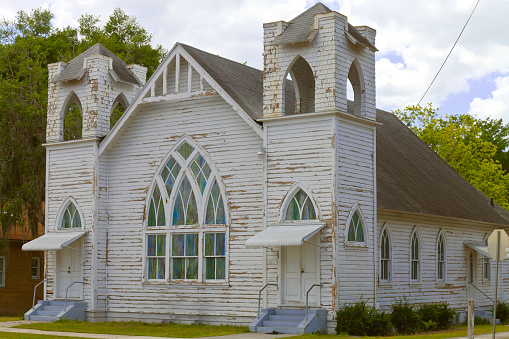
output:
M134 85L142 85L136 76L134 76L134 74L131 73L131 71L127 68L126 63L100 43L95 44L85 52L78 55L76 58L72 59L64 68L64 70L56 77L54 77L51 82L81 79L85 73L85 70L83 69L83 61L85 57L97 54L104 55L113 59L113 69L110 70L110 72L112 72L112 76L115 78L115 81L123 81Z

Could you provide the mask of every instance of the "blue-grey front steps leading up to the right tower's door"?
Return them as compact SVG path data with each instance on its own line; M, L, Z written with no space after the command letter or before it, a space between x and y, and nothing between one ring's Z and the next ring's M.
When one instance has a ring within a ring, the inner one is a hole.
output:
M327 331L327 310L263 309L249 326L251 332L304 334Z

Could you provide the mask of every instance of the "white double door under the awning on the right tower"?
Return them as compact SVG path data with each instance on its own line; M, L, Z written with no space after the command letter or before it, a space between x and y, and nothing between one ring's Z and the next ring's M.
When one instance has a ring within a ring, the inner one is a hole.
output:
M307 290L320 281L317 247L305 243L302 246L283 247L282 252L283 304L304 304ZM317 304L319 291L320 289L315 287L309 293L310 305Z

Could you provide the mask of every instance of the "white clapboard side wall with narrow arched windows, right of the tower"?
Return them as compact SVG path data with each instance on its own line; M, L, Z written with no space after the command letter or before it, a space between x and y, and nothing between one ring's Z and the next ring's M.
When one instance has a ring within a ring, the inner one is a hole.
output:
M382 309L390 309L397 299L405 297L412 304L447 302L458 311L467 309L467 247L464 241L482 242L486 234L500 226L453 218L410 214L399 211L378 211L378 239L382 226L389 227L392 237L392 281L379 282L378 300ZM410 283L410 236L417 227L421 236L421 282ZM440 231L446 242L446 280L437 281L436 244ZM478 254L478 287L494 295L495 263L491 263L491 281L482 276L482 255ZM509 297L508 265L502 265L499 297ZM503 281L502 281L503 280ZM488 308L491 301L477 293L476 307Z

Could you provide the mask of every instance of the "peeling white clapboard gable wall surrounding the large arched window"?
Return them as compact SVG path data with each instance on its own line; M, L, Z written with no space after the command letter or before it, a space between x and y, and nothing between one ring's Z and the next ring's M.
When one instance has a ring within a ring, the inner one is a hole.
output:
M226 189L231 218L226 286L142 281L148 188L162 160L184 135L207 152ZM164 319L255 315L263 256L262 250L246 249L244 243L262 229L262 160L256 155L261 144L261 138L219 95L139 107L115 145L101 156L108 163L108 319L122 318L124 312L140 317L159 314ZM246 319L243 323L251 318Z

